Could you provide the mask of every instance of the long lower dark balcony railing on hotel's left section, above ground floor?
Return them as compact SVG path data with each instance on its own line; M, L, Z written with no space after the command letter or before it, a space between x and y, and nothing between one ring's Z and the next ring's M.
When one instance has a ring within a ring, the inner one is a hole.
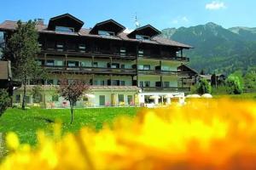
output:
M43 65L50 72L82 73L82 74L113 74L113 75L137 75L135 69L81 67L81 66L56 66Z

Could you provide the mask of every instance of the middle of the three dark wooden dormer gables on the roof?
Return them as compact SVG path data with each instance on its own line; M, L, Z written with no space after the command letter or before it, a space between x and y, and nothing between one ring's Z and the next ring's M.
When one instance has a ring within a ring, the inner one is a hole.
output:
M120 25L115 20L105 20L97 23L91 30L90 34L98 34L98 31L113 31L115 35L125 30L125 26Z

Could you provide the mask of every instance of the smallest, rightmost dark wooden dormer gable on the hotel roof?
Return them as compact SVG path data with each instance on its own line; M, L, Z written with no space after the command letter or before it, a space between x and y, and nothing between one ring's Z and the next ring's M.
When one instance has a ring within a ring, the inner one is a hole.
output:
M159 35L161 32L154 28L154 26L147 25L137 28L135 31L132 31L127 37L135 38L136 35L148 36L148 37L155 37Z

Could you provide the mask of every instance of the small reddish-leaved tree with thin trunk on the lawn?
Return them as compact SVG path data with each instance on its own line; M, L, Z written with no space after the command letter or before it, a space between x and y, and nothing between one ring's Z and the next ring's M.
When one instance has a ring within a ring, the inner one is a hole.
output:
M73 123L73 106L82 97L82 95L89 91L90 86L83 80L70 80L63 78L57 92L70 103L71 124Z

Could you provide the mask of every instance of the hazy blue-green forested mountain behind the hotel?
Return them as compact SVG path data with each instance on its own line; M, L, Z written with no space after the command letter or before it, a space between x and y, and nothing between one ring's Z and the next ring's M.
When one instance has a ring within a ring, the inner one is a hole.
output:
M225 29L212 22L206 25L167 28L161 37L187 43L189 65L197 71L247 71L256 68L256 28L233 27Z

